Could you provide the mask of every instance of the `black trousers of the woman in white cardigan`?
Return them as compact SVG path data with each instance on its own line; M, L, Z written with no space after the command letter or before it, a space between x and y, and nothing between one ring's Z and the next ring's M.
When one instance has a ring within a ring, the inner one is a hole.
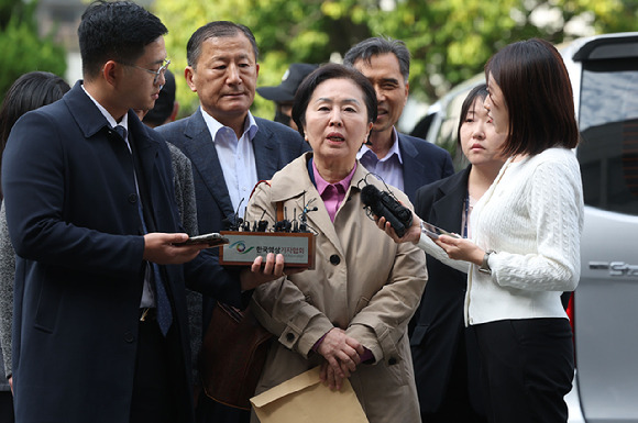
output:
M491 423L566 422L574 352L566 319L524 319L474 326Z

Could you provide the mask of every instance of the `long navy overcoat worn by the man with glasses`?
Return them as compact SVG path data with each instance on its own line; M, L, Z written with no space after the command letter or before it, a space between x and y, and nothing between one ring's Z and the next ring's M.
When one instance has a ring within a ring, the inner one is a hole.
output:
M183 232L164 141L129 111L138 177L155 229ZM129 420L144 240L133 162L80 82L25 114L3 156L2 183L18 254L13 372L16 419L24 422ZM174 309L183 383L175 400L193 420L185 280L241 305L239 283L200 254L161 266Z

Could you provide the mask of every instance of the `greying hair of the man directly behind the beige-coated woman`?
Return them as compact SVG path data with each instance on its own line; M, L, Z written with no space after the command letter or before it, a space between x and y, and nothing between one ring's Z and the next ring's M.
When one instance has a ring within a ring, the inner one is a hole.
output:
M396 56L399 63L399 69L404 77L404 82L408 84L410 77L410 52L406 47L406 43L400 40L393 40L391 37L375 36L362 41L352 46L343 57L343 64L353 67L359 59L365 60L369 65L373 56L392 53Z

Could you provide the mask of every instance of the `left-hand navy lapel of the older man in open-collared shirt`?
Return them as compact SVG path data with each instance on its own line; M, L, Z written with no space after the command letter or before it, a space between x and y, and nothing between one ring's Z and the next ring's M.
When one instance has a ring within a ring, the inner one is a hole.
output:
M234 210L223 178L223 170L221 169L210 131L201 115L201 110L198 109L188 119L189 122L185 130L187 141L184 145L187 156L190 157L193 166L199 172L202 182L223 214L227 216L233 215Z

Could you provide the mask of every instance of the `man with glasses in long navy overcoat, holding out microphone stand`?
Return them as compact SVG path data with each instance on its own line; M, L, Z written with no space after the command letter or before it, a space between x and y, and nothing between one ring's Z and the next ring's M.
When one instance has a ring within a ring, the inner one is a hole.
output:
M188 236L168 148L132 110L165 81L166 32L132 2L91 4L84 80L8 141L16 421L194 421L185 282L241 307L260 279L238 283L202 246L176 245Z

